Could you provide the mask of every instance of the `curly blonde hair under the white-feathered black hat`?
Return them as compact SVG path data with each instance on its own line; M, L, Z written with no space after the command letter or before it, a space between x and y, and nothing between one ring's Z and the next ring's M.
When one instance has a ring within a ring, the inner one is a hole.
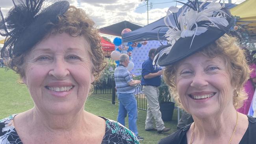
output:
M231 76L231 83L237 90L237 94L233 96L233 105L235 109L239 109L243 105L243 101L247 99L243 85L249 79L250 68L245 58L245 51L239 48L237 39L225 34L198 53L202 53L210 58L216 56L224 58ZM179 107L184 109L182 103L180 103L175 83L177 66L178 63L166 66L163 71L163 76L165 83L169 85L169 90L174 100L178 103Z

